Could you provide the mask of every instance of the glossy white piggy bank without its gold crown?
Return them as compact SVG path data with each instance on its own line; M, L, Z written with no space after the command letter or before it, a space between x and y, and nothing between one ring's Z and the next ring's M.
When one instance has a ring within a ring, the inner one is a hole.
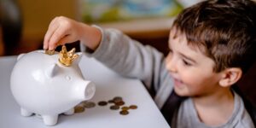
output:
M11 73L10 87L23 116L40 114L45 125L55 125L60 113L73 114L74 106L95 94L95 84L84 80L81 55L63 66L59 55L43 50L19 55Z

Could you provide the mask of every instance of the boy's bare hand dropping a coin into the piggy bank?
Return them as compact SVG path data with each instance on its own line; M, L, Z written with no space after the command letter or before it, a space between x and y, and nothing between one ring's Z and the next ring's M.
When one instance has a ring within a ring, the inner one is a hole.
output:
M44 49L55 49L58 45L73 43L78 40L95 50L102 39L102 32L96 27L88 26L67 17L55 17L49 24L44 36Z

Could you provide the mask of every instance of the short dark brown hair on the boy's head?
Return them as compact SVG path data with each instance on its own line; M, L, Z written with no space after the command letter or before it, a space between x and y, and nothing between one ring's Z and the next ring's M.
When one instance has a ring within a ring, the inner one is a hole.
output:
M249 0L209 0L184 9L172 27L215 61L214 72L226 67L246 72L256 59L255 13L256 3Z

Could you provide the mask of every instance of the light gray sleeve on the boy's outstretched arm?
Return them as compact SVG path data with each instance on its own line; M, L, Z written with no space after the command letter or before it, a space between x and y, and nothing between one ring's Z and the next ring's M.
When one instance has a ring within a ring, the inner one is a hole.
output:
M157 92L166 78L164 55L151 46L144 46L116 29L99 28L102 42L92 53L81 44L86 55L95 57L125 77L141 79L148 90Z

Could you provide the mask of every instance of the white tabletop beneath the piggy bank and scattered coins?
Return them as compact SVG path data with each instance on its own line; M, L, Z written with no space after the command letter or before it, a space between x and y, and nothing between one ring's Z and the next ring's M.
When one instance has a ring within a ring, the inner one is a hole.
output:
M42 119L22 117L20 107L15 102L9 88L9 76L15 65L16 56L0 57L0 127L1 128L43 128ZM160 110L154 104L148 91L137 79L126 79L113 73L93 58L83 57L80 62L85 79L96 84L96 94L91 102L108 101L114 96L122 96L125 105L136 104L128 115L108 107L86 108L83 113L70 116L61 115L55 128L167 128L170 127Z

